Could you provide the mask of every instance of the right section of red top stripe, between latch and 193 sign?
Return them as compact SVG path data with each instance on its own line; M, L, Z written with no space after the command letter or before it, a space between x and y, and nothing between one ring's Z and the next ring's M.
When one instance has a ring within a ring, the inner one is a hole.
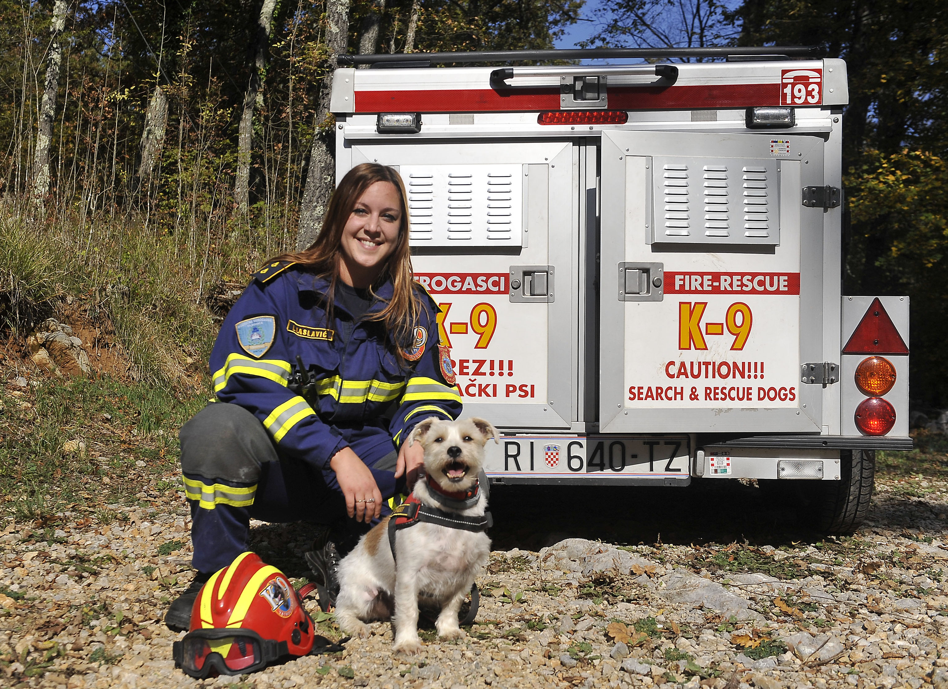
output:
M779 83L723 83L643 88L611 86L609 107L626 110L750 108L780 104Z

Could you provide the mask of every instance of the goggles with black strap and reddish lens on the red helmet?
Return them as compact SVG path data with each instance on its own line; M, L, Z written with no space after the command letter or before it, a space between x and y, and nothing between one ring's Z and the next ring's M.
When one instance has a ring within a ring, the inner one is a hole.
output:
M287 654L286 642L262 639L252 629L194 629L173 644L174 662L197 680L211 672L243 675L262 670Z

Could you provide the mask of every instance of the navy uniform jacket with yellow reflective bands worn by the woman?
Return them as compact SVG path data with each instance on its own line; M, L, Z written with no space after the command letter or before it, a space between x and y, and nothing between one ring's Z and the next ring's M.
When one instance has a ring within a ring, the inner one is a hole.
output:
M210 354L217 397L251 411L287 456L320 469L346 446L372 465L429 416L457 418L461 395L428 293L416 286L424 308L399 362L384 325L368 320L391 299L392 282L357 322L338 300L326 321L328 287L294 263L256 273ZM294 385L300 361L315 382L308 391Z

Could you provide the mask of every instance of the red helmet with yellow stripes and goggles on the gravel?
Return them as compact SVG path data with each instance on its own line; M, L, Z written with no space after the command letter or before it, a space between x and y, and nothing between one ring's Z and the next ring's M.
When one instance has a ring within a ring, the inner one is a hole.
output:
M243 675L313 648L313 619L286 575L243 553L215 572L191 608L191 631L175 642L175 664L203 679Z

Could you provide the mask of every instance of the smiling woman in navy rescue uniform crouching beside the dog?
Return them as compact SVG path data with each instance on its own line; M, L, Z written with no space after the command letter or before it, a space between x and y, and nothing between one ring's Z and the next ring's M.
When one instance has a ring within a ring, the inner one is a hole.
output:
M460 414L437 304L412 281L408 235L401 177L359 165L316 242L267 262L230 310L210 354L219 402L181 428L198 573L168 626L189 627L201 585L246 551L250 517L329 525L345 514L332 538L339 550L354 546L388 514L396 480L422 463L421 446L404 444L411 429ZM336 556L332 542L307 553L328 588Z

